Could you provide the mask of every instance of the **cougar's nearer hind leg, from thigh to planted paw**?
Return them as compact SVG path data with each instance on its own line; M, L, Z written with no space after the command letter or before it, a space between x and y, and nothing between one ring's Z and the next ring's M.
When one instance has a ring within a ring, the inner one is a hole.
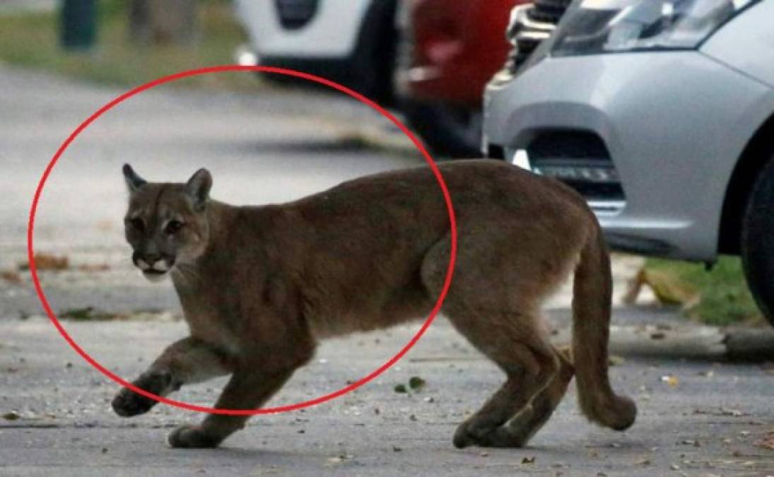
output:
M502 257L509 247L502 236L475 224L461 225L459 252L444 313L449 320L505 372L505 383L480 410L462 423L454 445L513 447L518 443L500 431L503 424L528 407L560 369L560 359L539 324L539 304L550 285L540 280L535 259ZM437 297L448 263L448 238L426 255L422 278ZM547 419L546 415L546 419Z

